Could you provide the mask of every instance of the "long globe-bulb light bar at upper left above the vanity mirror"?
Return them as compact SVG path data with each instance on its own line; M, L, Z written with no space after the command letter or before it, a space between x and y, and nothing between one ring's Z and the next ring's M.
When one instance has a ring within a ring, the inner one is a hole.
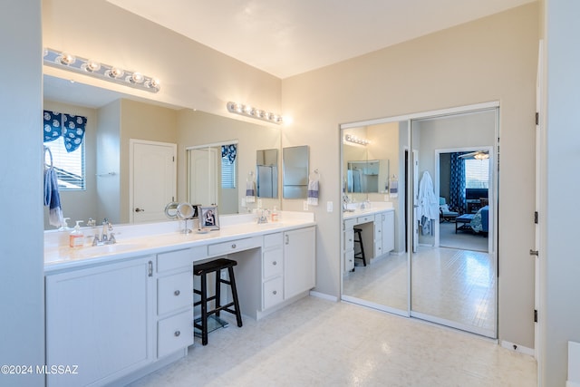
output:
M44 64L66 69L76 73L91 75L104 81L116 82L147 92L159 92L160 81L138 72L123 70L110 64L99 63L92 59L62 53L50 48L44 49Z

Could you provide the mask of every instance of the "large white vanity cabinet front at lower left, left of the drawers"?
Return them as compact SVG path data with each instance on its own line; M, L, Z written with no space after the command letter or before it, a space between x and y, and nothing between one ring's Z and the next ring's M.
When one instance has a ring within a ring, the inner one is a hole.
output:
M47 386L103 385L155 359L154 256L47 275Z

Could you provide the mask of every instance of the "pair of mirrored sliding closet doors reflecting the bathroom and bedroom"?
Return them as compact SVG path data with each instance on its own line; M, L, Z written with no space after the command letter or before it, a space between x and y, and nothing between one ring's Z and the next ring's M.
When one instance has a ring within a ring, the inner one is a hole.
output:
M352 123L341 136L343 300L497 337L497 104ZM369 160L389 160L388 178ZM380 217L366 216L382 208L389 251L375 246Z

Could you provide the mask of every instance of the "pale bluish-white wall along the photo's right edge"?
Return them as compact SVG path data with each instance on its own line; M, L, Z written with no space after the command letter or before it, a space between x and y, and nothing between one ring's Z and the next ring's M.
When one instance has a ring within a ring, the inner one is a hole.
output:
M545 230L540 263L544 291L539 319L539 363L545 386L566 381L567 341L580 342L580 256L575 211L580 180L580 2L546 0L546 131L542 159L543 205L540 219Z

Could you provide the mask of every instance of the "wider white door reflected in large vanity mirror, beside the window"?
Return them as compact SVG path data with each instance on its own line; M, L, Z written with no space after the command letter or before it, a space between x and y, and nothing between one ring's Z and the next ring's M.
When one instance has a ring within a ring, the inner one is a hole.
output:
M177 145L130 140L130 148L130 221L166 220L165 207L176 198Z

